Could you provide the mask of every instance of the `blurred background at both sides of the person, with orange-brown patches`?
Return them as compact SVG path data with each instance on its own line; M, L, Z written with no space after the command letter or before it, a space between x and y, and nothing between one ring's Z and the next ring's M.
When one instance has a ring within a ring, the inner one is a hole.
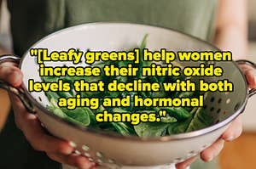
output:
M9 34L9 13L6 3L3 2L0 15L0 42L3 47L11 50L11 37ZM247 59L256 63L256 0L248 0L248 27L249 48ZM236 12L236 11L234 11ZM5 92L0 90L0 131L3 127L9 102L3 97ZM220 166L222 169L256 168L254 159L256 152L256 97L250 99L247 109L241 115L243 119L244 132L240 138L232 143L226 143L220 155ZM4 105L4 106L3 106Z

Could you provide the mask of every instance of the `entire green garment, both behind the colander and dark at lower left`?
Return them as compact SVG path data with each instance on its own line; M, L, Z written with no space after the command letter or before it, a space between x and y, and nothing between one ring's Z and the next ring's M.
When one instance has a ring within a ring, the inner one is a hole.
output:
M15 54L62 28L113 21L157 25L211 41L218 0L8 0ZM191 145L192 146L192 145ZM26 142L13 114L0 133L0 168L61 167ZM200 169L201 167L195 167ZM203 168L207 168L203 165Z

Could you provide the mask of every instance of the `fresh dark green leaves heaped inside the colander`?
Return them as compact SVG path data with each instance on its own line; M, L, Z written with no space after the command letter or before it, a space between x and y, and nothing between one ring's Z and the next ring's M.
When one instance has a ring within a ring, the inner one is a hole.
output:
M146 48L146 39L147 36L143 38L143 42L140 45L140 51L143 51L143 48ZM142 59L143 57L141 57ZM106 63L96 63L95 66L103 67ZM140 60L139 64L134 64L129 61L124 62L110 62L108 64L113 64L116 67L124 67L128 64L132 64L133 67L141 68L143 66L148 66L151 62L146 62ZM86 82L96 82L98 80L102 80L105 84L112 82L113 80L117 80L118 82L132 82L135 79L142 78L143 82L175 82L176 78L172 76L141 76L141 72L139 72L137 76L100 76L100 77L73 77L73 76L44 76L42 77L44 82L56 82L59 79L62 79L63 82L74 82L75 80L84 79ZM181 79L185 77L181 76ZM90 110L87 107L83 108L76 108L75 110L67 110L66 108L60 108L57 105L57 100L61 97L69 98L75 97L77 93L73 90L70 92L46 92L46 96L49 99L49 106L48 109L53 112L55 115L59 115L61 118L67 119L68 121L72 121L79 125L83 125L85 127L96 127L102 130L111 131L111 132L118 132L124 136L128 135L137 135L139 137L160 137L166 136L176 133L182 132L191 132L203 127L207 127L212 124L212 116L208 115L206 110L202 108L188 108L188 107L164 107L161 110L166 110L167 115L166 117L161 117L160 122L140 122L138 125L133 126L131 123L128 122L97 122L95 120L95 115L98 112L102 112L102 110L111 111L118 111L118 112L158 112L160 108L148 108L148 107L119 107L119 108L105 108L102 105L97 110ZM198 95L198 92L176 92L176 93L165 93L163 91L160 92L131 92L131 93L121 93L121 92L108 92L105 90L104 93L101 92L83 92L79 93L81 97L110 97L110 98L123 98L125 94L135 95L142 98L156 98L156 97L166 97L166 98L174 98L174 97L189 97L192 98L193 96ZM132 102L132 100L131 100Z

